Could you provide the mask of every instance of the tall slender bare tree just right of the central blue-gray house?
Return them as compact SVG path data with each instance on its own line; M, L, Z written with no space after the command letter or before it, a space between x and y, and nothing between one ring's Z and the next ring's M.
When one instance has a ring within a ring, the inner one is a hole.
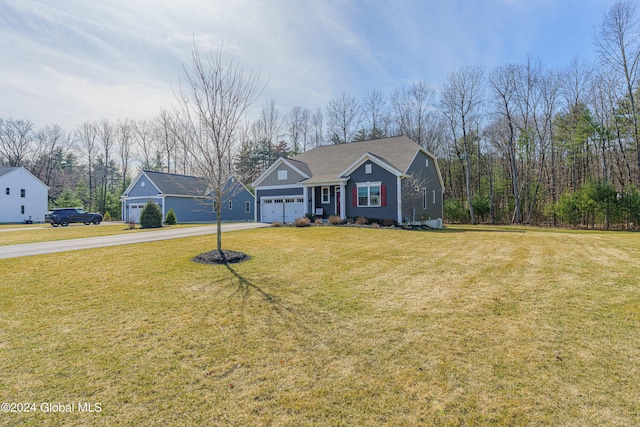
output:
M473 197L471 195L471 152L469 133L475 116L479 114L482 101L482 79L484 70L479 65L463 67L449 74L447 83L442 89L442 112L451 124L454 142L458 132L462 134L465 160L465 181L471 223L475 224Z

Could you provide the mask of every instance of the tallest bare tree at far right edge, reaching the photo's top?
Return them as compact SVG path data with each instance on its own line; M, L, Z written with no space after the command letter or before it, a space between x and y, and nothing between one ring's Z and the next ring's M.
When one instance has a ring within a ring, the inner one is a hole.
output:
M634 92L640 66L640 21L636 3L626 0L611 6L603 16L598 29L594 31L594 42L600 61L624 78L631 107L633 141L638 159L637 182L640 183L640 135L638 134L637 95Z

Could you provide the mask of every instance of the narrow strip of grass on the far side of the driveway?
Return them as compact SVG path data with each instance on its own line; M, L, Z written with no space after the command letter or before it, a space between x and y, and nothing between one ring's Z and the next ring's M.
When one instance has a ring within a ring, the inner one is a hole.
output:
M213 224L178 224L171 228L197 227L201 225ZM163 226L167 227L167 226ZM24 228L22 230L8 231L11 228ZM7 230L7 231L3 231ZM139 225L133 230L128 224L123 223L103 223L99 226L93 224L69 224L67 227L52 227L51 225L13 225L0 226L0 246L17 245L22 243L50 242L55 240L81 239L83 237L110 236L113 234L140 233L156 231L157 229L141 229Z

